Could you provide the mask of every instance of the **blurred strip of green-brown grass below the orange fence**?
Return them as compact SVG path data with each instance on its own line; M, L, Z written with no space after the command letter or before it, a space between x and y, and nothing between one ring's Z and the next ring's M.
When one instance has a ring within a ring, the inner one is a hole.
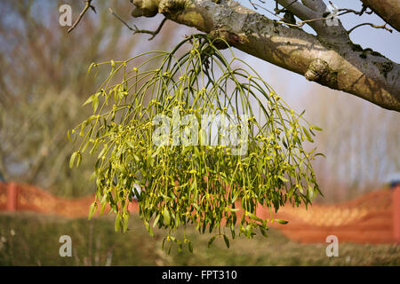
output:
M242 237L226 248L193 228L188 235L194 253L161 249L163 234L151 238L139 217L131 217L127 233L114 232L110 217L66 219L37 214L0 214L0 265L400 265L400 246L340 243L339 257L325 256L328 244L300 244L279 231L268 238ZM72 238L72 257L59 255L60 235ZM168 247L166 247L168 248Z

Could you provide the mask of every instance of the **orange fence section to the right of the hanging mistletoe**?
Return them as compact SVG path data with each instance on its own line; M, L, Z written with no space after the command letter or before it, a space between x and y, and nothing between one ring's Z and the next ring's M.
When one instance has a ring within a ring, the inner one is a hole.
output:
M289 220L288 225L278 226L296 241L324 242L328 235L336 235L340 241L400 243L400 186L341 204L315 204L307 210L285 206L276 217Z

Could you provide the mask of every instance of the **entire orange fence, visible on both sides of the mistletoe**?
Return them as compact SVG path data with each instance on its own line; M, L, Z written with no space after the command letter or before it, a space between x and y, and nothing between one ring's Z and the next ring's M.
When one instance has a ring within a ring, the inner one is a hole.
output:
M93 199L94 195L60 198L33 185L0 183L0 210L86 217ZM137 212L138 204L132 202L130 209ZM259 208L257 215L270 217L264 208ZM305 209L288 204L275 217L289 221L287 225L273 223L272 226L295 241L325 242L328 235L336 235L340 241L400 243L400 185L335 205L314 204Z

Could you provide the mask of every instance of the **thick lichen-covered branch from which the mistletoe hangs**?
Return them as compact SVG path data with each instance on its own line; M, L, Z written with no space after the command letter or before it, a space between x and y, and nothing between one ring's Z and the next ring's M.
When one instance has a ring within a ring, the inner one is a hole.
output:
M278 1L292 3L292 0ZM167 19L220 36L239 50L304 75L310 81L400 111L399 65L378 52L353 44L341 25L321 31L323 36L313 36L300 28L284 27L235 1L216 4L212 0L134 0L133 3L139 10L146 5L148 15L158 11ZM317 15L304 5L297 7L303 9L304 17ZM332 35L332 30L342 33L341 29L346 36Z

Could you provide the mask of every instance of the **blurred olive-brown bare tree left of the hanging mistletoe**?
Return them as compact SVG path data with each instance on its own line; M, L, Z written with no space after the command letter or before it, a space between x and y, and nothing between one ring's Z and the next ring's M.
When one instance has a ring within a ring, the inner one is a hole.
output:
M66 36L58 7L68 2L2 1L0 4L0 171L8 181L43 187L57 195L93 193L93 164L79 171L68 167L72 146L67 130L90 114L82 106L94 80L87 76L93 61L127 58L140 49L140 36L130 36L99 3L98 14ZM69 1L74 16L82 8ZM131 6L110 1L116 11ZM88 36L89 35L89 36ZM157 40L168 44L165 32ZM146 41L147 42L147 41ZM145 42L145 43L146 43ZM142 42L141 42L142 43ZM101 76L101 75L100 75Z

